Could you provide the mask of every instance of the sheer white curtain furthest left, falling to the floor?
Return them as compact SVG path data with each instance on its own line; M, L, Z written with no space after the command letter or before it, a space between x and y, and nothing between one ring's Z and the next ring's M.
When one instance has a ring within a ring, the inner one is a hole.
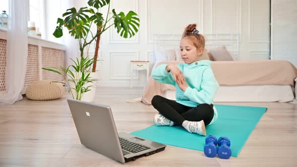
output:
M6 49L6 92L0 93L0 104L14 104L22 100L28 56L29 0L9 1L9 22Z

